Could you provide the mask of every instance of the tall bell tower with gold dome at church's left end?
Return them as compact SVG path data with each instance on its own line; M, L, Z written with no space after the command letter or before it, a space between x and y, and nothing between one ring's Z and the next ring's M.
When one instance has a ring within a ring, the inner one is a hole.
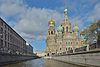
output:
M55 21L51 18L48 22L48 33L47 33L47 55L50 56L56 53L56 34L55 34Z

